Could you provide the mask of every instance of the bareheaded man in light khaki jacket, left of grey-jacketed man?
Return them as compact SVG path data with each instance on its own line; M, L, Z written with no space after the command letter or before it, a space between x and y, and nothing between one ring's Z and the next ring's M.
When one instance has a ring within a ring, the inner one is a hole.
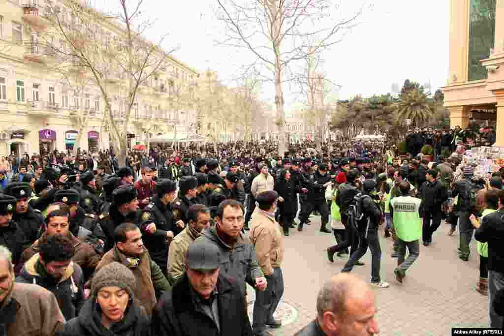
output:
M210 210L194 204L187 210L189 223L170 243L168 250L168 281L173 285L185 272L185 252L204 229L210 227Z

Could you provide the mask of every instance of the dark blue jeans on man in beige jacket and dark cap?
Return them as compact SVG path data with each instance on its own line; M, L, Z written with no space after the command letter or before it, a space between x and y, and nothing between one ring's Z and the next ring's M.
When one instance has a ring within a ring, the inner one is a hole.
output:
M273 268L273 274L266 276L268 286L264 292L256 290L252 329L255 335L265 335L266 323L273 321L273 313L282 298L284 285L280 267Z

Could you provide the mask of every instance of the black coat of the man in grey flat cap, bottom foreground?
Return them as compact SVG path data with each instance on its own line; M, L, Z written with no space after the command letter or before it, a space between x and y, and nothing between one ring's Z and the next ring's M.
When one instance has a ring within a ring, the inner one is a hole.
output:
M152 315L151 333L170 336L252 335L242 285L221 274L216 286L220 330L210 317L196 309L190 294L191 284L184 274L158 301Z

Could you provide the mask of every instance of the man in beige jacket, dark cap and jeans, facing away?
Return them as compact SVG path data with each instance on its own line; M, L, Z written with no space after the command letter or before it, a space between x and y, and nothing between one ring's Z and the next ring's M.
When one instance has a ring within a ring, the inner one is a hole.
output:
M256 290L254 303L253 329L255 335L266 335L266 325L278 328L281 322L275 321L273 313L283 295L283 274L280 268L283 261L283 235L275 221L278 193L263 191L256 196L259 207L250 220L250 238L256 249L268 287L264 292Z

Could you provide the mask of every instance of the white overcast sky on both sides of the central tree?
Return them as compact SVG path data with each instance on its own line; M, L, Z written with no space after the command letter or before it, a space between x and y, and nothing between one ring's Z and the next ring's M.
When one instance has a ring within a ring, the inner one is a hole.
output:
M449 1L369 1L374 2L374 8L362 17L364 22L323 54L328 78L342 85L339 98L386 94L392 92L394 83L400 88L407 78L421 84L430 82L432 92L444 86L448 76ZM169 32L165 48L178 46L177 58L198 71L217 71L226 83L239 74L250 54L215 45L223 29L214 14L215 5L214 0L144 0L142 12L157 18L150 39ZM288 87L285 91L286 105L290 105L297 98ZM273 102L274 95L272 87L263 87L262 100Z

